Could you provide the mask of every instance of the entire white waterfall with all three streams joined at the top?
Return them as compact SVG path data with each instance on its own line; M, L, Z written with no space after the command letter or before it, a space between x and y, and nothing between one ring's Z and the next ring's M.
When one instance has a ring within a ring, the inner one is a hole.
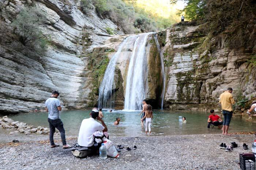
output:
M124 39L119 45L117 52L112 56L108 67L106 68L103 80L99 86L98 107L114 108L112 95L115 90L115 68L117 58L120 56L122 50L129 44L129 39L135 40L133 44L132 55L130 57L127 79L125 85L125 110L142 110L142 100L146 98L146 83L148 77L148 61L147 43L148 38L154 35L154 40L161 59L161 74L163 78L163 89L161 94L161 107L163 108L163 101L165 95L165 67L163 63L163 54L159 45L157 35L155 32L143 33L140 35L131 35Z

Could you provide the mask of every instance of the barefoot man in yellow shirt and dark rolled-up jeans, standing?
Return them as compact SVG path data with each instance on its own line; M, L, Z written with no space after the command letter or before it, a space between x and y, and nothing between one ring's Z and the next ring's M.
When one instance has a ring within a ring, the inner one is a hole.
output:
M231 135L227 133L229 130L229 123L231 121L231 117L233 114L232 104L235 103L233 95L231 94L233 91L232 88L227 88L227 91L223 92L219 96L219 103L221 103L222 114L224 116L222 134L223 135Z

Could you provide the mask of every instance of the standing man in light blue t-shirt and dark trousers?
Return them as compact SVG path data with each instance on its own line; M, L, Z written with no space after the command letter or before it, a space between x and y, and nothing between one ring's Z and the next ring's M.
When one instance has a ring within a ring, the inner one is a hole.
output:
M61 106L60 101L57 99L59 95L59 92L57 90L54 90L50 98L45 101L45 110L49 113L48 122L50 126L50 144L52 148L60 146L54 144L53 141L53 134L55 132L55 128L57 128L60 131L63 149L68 149L70 145L67 145L66 143L65 130L63 127L63 123L60 119Z

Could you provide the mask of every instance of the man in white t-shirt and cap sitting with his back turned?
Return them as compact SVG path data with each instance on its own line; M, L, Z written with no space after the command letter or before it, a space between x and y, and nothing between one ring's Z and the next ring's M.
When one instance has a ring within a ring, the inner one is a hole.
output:
M94 108L91 111L90 118L83 119L79 135L78 135L78 145L83 147L90 147L91 149L94 149L94 137L93 133L95 131L108 131L108 128L104 121L99 117L99 111L97 108ZM99 120L101 123L97 122Z

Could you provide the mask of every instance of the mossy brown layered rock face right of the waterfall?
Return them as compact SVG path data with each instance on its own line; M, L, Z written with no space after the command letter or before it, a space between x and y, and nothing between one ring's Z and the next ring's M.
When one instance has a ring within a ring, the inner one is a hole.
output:
M255 96L255 70L250 70L248 63L255 51L230 50L224 40L211 51L205 47L211 39L200 34L199 27L177 25L167 29L163 47L168 61L165 107L218 108L219 95L228 87L233 88L235 99L238 95Z

